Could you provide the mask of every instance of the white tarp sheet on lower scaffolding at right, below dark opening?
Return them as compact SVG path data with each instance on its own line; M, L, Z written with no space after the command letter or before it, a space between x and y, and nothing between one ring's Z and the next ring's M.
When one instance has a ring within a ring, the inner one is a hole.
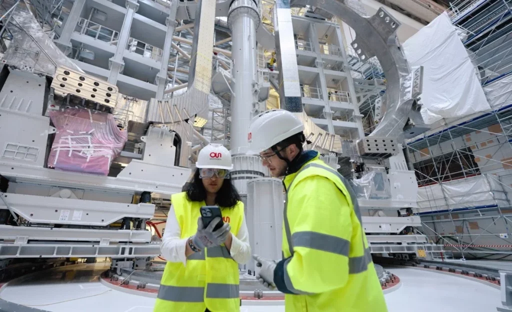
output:
M479 175L418 188L418 212L445 211L486 205L507 205L494 175ZM442 185L442 186L441 186Z

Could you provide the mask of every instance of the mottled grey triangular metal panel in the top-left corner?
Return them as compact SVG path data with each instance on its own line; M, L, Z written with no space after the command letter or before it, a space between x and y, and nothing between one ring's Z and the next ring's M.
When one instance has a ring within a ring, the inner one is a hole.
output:
M81 71L42 31L25 2L18 4L12 19L17 27L9 28L14 39L2 63L48 76L53 76L60 65Z

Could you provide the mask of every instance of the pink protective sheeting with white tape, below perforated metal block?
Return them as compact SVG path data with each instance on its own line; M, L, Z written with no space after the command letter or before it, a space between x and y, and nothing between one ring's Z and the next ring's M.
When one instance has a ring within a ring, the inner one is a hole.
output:
M49 113L57 128L48 167L63 171L108 175L111 161L127 140L112 114L81 108Z

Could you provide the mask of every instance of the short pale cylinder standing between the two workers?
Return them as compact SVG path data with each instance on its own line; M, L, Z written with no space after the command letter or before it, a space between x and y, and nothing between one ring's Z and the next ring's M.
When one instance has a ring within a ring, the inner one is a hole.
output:
M281 260L284 199L280 179L257 178L247 182L245 214L252 254ZM249 261L247 269L255 270L254 261Z

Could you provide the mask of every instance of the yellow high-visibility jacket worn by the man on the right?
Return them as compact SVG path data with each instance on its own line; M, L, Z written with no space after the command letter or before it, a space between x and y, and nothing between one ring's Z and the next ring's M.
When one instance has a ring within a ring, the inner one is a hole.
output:
M284 280L297 294L285 295L286 311L387 312L356 195L345 178L316 156L284 182ZM332 204L314 206L309 196Z

